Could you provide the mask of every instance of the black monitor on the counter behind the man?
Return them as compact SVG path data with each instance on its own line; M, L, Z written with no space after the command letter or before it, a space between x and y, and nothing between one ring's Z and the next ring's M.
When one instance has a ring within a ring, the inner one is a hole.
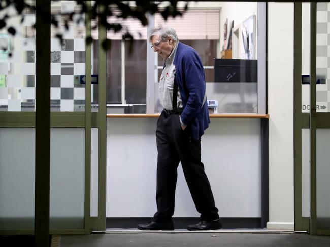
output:
M214 81L219 83L256 83L258 60L214 59Z

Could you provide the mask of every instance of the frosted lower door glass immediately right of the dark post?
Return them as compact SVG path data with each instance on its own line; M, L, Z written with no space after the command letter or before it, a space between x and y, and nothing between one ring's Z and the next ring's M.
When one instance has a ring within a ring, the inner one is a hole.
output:
M52 128L50 228L84 229L85 129Z

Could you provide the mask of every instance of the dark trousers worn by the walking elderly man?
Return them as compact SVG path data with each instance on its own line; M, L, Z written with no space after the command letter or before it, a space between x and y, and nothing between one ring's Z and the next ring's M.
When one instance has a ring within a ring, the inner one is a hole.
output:
M183 173L193 202L201 220L219 218L209 180L201 162L201 141L190 138L189 126L183 131L179 115L161 113L156 129L157 162L157 212L153 221L172 219L174 214L177 167L181 161Z

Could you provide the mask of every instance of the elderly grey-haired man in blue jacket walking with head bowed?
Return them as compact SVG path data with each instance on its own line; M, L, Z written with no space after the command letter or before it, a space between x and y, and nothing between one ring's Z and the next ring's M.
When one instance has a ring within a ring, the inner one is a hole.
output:
M179 42L176 31L160 27L152 31L151 48L165 62L159 83L164 108L157 122L157 212L140 230L173 230L177 167L181 161L193 202L201 221L188 230L222 227L210 183L201 162L201 136L209 126L203 63L197 52Z

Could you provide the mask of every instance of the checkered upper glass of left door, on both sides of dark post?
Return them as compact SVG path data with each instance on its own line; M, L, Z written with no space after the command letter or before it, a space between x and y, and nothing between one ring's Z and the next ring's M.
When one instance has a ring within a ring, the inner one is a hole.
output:
M74 1L54 2L52 10L75 10ZM0 33L0 111L35 111L35 15L25 15L17 35ZM75 77L85 75L85 27L73 22L60 26L63 42L51 38L52 111L84 111L85 85ZM11 55L11 56L10 56Z

